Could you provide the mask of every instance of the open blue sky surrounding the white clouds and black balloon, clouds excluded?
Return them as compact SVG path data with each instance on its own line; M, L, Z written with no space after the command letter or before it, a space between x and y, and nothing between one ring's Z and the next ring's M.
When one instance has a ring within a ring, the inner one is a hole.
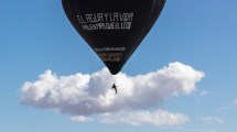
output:
M150 111L187 117L175 125L76 122L71 112L22 105L25 81L50 69L57 76L93 74L104 64L76 33L60 0L0 2L0 130L3 132L234 132L237 128L237 1L176 0L166 6L153 29L125 65L127 76L163 70L180 62L205 74L192 92L162 100ZM185 72L184 72L185 73ZM184 74L185 75L185 74ZM49 107L52 108L52 107ZM131 108L132 109L132 108ZM122 114L122 113L120 113ZM82 119L82 118L80 118Z

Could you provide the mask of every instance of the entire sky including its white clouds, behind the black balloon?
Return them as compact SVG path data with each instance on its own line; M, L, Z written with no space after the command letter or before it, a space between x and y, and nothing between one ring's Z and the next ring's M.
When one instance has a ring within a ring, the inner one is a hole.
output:
M0 131L234 132L236 4L166 0L111 76L61 0L0 1Z

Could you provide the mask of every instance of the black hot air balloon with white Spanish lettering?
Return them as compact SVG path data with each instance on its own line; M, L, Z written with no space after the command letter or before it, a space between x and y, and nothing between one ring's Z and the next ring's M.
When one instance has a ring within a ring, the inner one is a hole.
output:
M71 23L112 75L159 18L165 0L62 0Z

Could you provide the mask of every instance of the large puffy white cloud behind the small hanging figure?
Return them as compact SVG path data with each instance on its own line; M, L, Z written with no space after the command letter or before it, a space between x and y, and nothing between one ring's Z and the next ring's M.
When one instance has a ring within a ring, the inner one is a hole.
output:
M155 109L172 96L191 95L203 77L204 73L179 62L138 76L122 73L111 76L107 68L91 75L71 76L46 70L39 80L24 82L21 102L73 116ZM118 95L111 89L114 82L118 86Z

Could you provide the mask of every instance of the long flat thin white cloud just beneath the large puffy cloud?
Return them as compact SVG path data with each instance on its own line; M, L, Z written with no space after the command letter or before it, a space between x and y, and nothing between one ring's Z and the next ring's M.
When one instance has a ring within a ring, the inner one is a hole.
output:
M106 113L101 117L104 123L128 123L131 125L177 125L186 123L190 120L187 116L182 113L171 113L163 110L154 112L150 111L136 111L136 112L120 112L120 113Z

